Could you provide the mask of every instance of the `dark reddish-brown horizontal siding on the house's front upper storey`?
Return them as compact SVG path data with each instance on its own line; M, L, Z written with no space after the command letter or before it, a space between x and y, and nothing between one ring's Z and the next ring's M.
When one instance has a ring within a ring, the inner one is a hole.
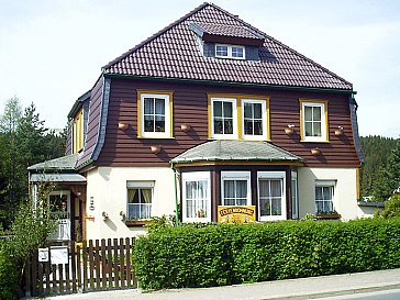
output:
M136 89L173 90L174 136L175 138L137 138ZM309 167L356 167L359 165L353 142L353 130L348 107L348 96L303 92L275 91L255 88L226 88L203 85L149 82L130 79L112 79L110 109L107 123L105 143L97 165L103 166L169 166L169 160L182 152L208 141L208 100L207 93L242 93L270 97L270 142L302 158ZM329 101L330 143L300 142L299 98L324 99ZM118 123L129 123L126 131L118 129ZM180 124L191 125L182 132ZM287 135L285 127L295 124L296 134ZM344 135L337 137L334 130L344 127ZM157 155L151 145L160 145ZM310 149L319 147L318 157Z

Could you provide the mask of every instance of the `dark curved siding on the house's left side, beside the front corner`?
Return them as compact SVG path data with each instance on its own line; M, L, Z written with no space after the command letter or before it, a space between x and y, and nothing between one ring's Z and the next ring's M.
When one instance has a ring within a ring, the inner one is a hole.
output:
M88 160L91 157L96 147L100 126L100 112L103 96L102 87L103 78L100 77L91 91L84 155L79 159L78 164Z

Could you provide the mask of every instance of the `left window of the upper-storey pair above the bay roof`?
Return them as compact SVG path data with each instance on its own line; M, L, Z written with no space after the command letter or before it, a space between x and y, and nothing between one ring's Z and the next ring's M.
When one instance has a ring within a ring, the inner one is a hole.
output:
M237 138L236 99L211 98L211 137Z

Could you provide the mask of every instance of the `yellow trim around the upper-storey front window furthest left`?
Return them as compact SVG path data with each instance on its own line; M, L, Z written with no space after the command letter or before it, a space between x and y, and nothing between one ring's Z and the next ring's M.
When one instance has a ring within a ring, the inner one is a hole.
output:
M174 91L171 90L145 90L137 89L137 138L175 138L174 137ZM142 136L142 95L164 95L169 97L169 132L166 132L165 136Z

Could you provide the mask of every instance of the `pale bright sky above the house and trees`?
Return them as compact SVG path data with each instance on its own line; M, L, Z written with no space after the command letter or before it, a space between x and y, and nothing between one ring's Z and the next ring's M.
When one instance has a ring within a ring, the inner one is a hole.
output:
M400 1L212 2L352 82L360 135L400 137ZM0 0L0 114L18 97L63 129L102 66L201 3Z

